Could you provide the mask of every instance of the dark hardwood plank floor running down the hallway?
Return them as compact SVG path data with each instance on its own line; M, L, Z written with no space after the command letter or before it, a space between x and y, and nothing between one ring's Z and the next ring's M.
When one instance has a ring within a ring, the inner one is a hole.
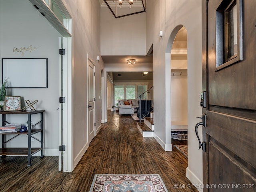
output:
M166 152L154 138L143 138L131 116L108 111L108 123L73 172L58 171L58 157L0 158L1 192L89 192L94 174L160 174L169 192L196 189L186 178L187 159L176 149ZM174 184L178 184L177 189Z

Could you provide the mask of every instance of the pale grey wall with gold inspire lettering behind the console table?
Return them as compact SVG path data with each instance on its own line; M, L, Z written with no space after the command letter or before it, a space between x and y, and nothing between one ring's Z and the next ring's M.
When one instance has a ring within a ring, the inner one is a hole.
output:
M48 88L12 88L8 95L22 96L24 100L38 100L34 107L45 110L44 113L44 155L58 155L58 37L60 34L38 12L28 0L0 1L0 55L1 58L48 58ZM13 52L14 48L37 49L30 52ZM40 73L40 71L34 71ZM29 74L20 74L17 78ZM27 115L10 115L10 122L25 124ZM32 123L40 119L32 115ZM36 134L40 137L40 134ZM2 138L2 137L1 137ZM0 138L0 139L1 139ZM27 147L27 136L21 135L10 143L10 147ZM32 141L32 146L40 146Z

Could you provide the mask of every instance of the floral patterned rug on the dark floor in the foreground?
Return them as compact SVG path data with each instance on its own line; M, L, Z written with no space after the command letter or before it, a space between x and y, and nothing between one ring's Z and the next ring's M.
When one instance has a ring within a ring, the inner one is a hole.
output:
M96 174L90 192L168 192L158 174Z

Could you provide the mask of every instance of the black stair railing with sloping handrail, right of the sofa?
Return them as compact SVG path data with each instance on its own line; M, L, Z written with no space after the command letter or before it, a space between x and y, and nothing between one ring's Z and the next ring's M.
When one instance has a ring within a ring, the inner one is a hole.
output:
M138 100L137 113L139 113L138 117L140 122L142 119L144 119L145 116L150 114L150 112L152 112L153 110L153 90L154 88L152 86L148 90L146 90L144 93L142 93L140 96L137 97L137 100ZM142 101L145 101L145 102L143 102L142 104ZM142 108L145 109L146 114L141 114Z

